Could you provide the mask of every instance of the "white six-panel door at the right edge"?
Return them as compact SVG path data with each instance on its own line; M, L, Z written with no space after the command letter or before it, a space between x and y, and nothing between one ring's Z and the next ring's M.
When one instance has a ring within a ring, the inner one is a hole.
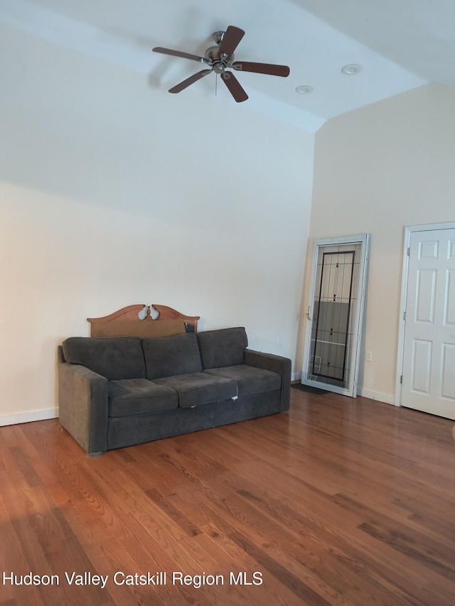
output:
M455 229L410 234L401 404L455 419Z

